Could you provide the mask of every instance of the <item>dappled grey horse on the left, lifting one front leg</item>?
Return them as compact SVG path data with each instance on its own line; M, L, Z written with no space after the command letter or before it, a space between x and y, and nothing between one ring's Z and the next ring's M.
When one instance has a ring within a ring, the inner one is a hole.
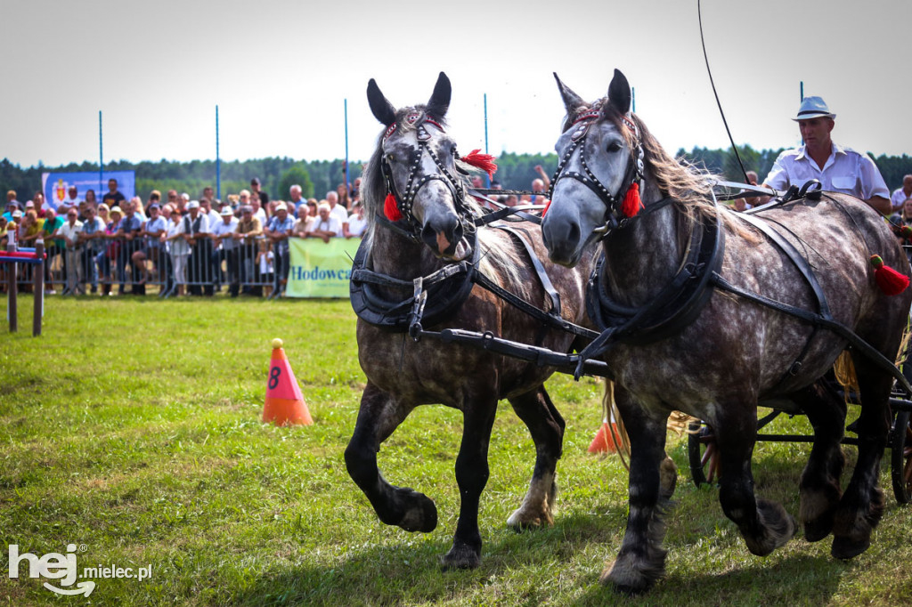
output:
M372 286L370 301L408 301L414 279L468 263L470 269L484 273L525 301L551 309L551 300L536 277L529 254L516 240L522 235L551 274L561 296L562 315L579 323L584 315L583 296L591 261L584 261L575 271L558 268L559 272L554 272L541 233L531 224L523 227L512 223L513 233L484 227L478 229L477 240L470 238L475 233L471 215L481 210L466 195L460 176L461 170L471 167L457 164L455 143L444 131L450 97L450 80L442 73L426 105L399 110L384 98L373 79L368 84L370 108L383 123L384 132L362 180L361 200L369 229L355 265L392 279L378 279L381 283ZM399 221L385 216L385 200L394 193L402 215ZM453 277L457 279L459 275ZM430 283L426 281L425 286ZM448 314L439 314L436 320L426 315L425 328L491 331L554 351L570 350L573 335L545 329L540 321L477 285L470 283L468 289L471 293L464 303L457 303ZM446 293L442 296L447 297ZM428 309L439 304L435 297L429 295ZM389 320L382 312L375 317L377 324ZM427 532L436 527L434 502L416 490L389 484L379 474L377 452L415 406L441 403L455 407L461 410L464 422L456 458L461 508L452 548L441 561L448 568L477 566L482 551L478 509L488 479L488 443L497 401L506 398L529 428L536 452L528 493L507 522L515 528L552 524L554 468L564 437L564 419L543 386L554 368L466 345L441 344L427 337L415 343L403 333L407 327L390 324L384 328L364 318L359 314L358 359L368 376L368 386L345 456L348 473L367 495L379 519L409 531ZM398 470L397 475L405 471Z

